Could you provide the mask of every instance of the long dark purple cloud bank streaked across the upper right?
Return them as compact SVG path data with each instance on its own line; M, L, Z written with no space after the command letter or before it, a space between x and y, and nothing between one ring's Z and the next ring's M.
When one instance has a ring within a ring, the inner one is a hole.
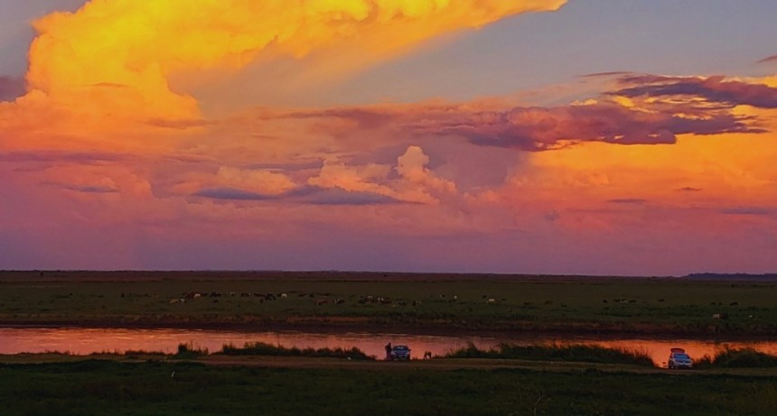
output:
M316 133L341 139L378 133L408 139L458 136L476 145L538 152L584 142L670 144L677 142L679 134L765 133L755 116L737 115L732 107L747 104L777 108L777 88L722 77L622 72L589 76L623 74L627 75L618 79L623 88L605 92L593 104L585 105L504 108L480 102L420 103L310 110L272 117L315 119L311 128ZM651 99L624 106L613 97Z

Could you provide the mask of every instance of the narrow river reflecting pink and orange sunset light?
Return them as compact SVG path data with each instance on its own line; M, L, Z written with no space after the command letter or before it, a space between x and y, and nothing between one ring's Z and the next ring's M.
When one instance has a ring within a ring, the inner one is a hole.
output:
M384 346L407 344L414 359L426 351L434 356L445 355L472 343L480 348L490 348L501 343L576 343L638 349L648 353L657 365L666 362L669 348L683 347L693 357L714 356L726 347L750 347L764 353L777 355L777 341L715 341L688 339L590 339L576 337L462 337L426 336L380 333L319 334L310 332L225 332L192 329L121 329L121 328L0 328L0 354L42 353L47 351L70 352L86 355L100 352L129 350L160 351L174 353L180 343L219 351L225 344L242 347L246 342L264 342L282 347L358 347L370 356L385 355Z

